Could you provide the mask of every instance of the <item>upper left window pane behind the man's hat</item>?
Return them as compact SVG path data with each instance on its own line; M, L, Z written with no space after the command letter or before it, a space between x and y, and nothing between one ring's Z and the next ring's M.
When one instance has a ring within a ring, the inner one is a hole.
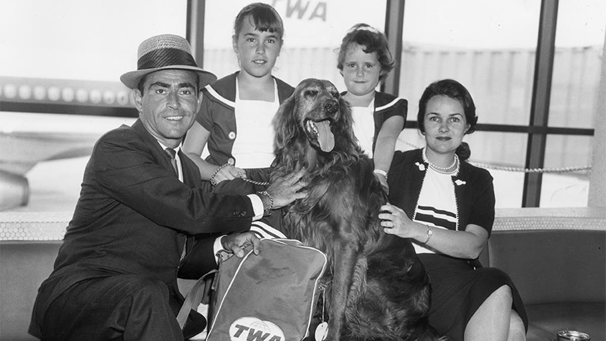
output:
M185 36L186 15L186 1L3 1L0 76L119 82L143 39Z

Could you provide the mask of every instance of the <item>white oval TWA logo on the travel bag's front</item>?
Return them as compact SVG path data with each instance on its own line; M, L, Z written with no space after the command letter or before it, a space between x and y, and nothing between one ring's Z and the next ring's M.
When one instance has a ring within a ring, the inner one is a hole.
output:
M231 341L284 341L284 333L279 326L256 317L241 317L231 323L229 328Z

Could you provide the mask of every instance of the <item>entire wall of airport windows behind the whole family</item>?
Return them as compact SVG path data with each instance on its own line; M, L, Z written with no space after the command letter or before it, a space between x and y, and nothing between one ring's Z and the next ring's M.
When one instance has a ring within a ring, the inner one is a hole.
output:
M128 91L118 78L136 66L136 47L151 35L186 36L203 27L204 36L190 35L196 37L194 46L204 44L203 66L219 77L235 72L239 67L231 46L233 21L250 2L2 2L0 133L19 129L73 133L82 127L77 116L84 114L87 129L99 134L132 122L99 120L96 115L125 116L127 109L132 113ZM465 141L471 146L470 161L493 175L499 208L587 204L599 83L604 82L599 77L606 2L407 0L403 9L396 0L264 2L278 10L285 24L285 44L274 75L293 86L303 78L325 78L344 90L336 69L342 36L357 22L385 28L390 41L402 42L401 51L392 50L401 56L393 72L398 72L397 81L385 90L409 101L408 126L398 149L424 144L415 128L424 87L439 78L455 78L468 87L478 107L478 131ZM196 18L193 4L203 8L196 13L205 13L204 17ZM393 8L404 11L395 24L385 21L386 14L390 20L396 17ZM539 37L550 30L553 41L548 35ZM40 113L53 114L31 116ZM5 144L0 145L5 154L2 147ZM35 148L37 153L42 149ZM43 161L24 173L32 196L30 206L20 209L44 210L36 203L51 202L53 195L59 195L55 201L68 204L42 206L70 209L87 158Z

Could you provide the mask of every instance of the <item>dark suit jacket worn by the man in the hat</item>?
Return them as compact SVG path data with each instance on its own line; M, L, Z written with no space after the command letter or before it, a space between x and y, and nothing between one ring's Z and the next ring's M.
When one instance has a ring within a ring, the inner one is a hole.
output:
M204 191L198 167L182 152L179 157L183 182L140 120L99 139L54 270L39 289L30 333L36 335L48 305L81 280L138 274L166 283L181 302L178 272L195 278L216 266L214 238L200 234L250 227L249 198ZM198 238L180 261L186 235Z

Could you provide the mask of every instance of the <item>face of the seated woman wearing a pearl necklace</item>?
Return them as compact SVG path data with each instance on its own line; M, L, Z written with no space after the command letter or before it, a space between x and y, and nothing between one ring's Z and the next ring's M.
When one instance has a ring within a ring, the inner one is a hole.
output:
M470 127L461 102L444 95L430 98L423 123L427 147L438 154L454 153Z

